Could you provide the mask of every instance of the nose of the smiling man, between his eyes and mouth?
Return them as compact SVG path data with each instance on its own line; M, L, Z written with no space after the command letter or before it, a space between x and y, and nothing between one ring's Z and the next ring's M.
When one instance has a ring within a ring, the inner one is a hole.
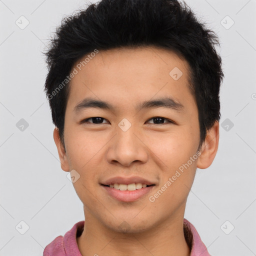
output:
M118 162L128 167L133 162L145 163L148 159L146 143L133 125L126 131L117 127L117 133L108 146L106 158L109 163Z

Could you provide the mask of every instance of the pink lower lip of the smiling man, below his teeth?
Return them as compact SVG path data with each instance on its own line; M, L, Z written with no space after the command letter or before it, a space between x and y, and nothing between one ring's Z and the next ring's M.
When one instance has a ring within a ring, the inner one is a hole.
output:
M129 190L119 190L119 189L115 189L115 188L104 186L104 185L101 185L101 186L106 190L106 192L110 196L112 196L118 201L123 201L123 202L135 201L138 198L140 198L142 195L145 195L146 193L148 193L153 187L152 185L152 186L146 186L140 189L129 191Z

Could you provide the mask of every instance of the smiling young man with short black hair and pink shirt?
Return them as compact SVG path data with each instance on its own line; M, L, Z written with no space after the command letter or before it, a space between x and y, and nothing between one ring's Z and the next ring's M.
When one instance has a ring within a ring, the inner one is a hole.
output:
M63 20L45 82L85 221L43 255L209 255L184 210L218 147L217 36L177 0L101 0Z

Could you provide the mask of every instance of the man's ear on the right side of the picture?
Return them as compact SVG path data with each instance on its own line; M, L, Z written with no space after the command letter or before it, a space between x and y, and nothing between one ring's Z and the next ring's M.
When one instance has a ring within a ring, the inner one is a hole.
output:
M205 169L209 167L216 155L219 139L219 122L215 121L214 125L207 130L206 138L202 143L201 154L197 160L197 167Z

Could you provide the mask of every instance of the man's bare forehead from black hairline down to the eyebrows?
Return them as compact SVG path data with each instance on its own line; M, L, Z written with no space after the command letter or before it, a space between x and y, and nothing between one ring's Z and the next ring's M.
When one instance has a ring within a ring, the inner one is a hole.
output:
M191 97L189 65L170 50L150 46L99 50L80 58L73 68L77 74L70 81L68 97L73 104L85 96L119 99L121 104L154 96L181 101Z

